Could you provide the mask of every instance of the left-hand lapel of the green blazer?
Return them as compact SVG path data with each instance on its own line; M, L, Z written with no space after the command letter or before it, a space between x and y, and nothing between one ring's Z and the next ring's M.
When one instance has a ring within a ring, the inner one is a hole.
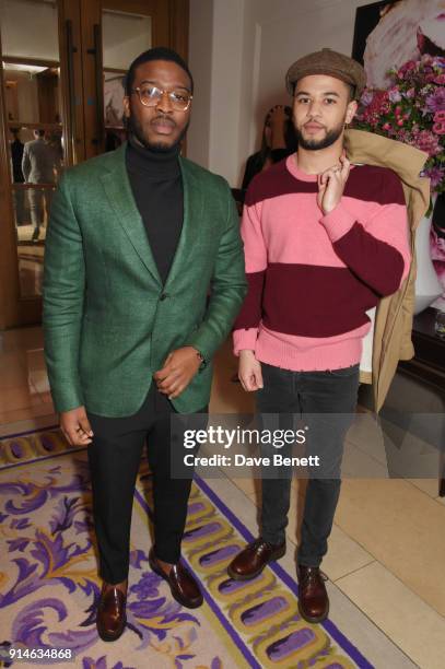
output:
M118 221L134 247L136 253L152 274L153 279L162 285L149 238L131 191L125 160L126 146L127 144L125 143L115 152L108 172L106 172L101 179L105 192L116 211ZM184 191L185 190L184 187ZM184 198L184 203L185 200L186 198Z

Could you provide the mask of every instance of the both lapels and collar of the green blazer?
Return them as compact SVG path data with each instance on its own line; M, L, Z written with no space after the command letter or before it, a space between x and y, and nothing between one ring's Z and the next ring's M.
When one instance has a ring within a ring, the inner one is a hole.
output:
M128 178L126 148L127 143L124 143L113 154L109 154L108 163L101 179L108 200L116 211L119 223L130 239L136 254L151 273L153 280L162 286L161 277ZM189 249L197 238L198 226L201 220L202 195L199 184L187 161L179 157L179 166L184 190L184 221L175 257L165 282L165 289L186 269Z

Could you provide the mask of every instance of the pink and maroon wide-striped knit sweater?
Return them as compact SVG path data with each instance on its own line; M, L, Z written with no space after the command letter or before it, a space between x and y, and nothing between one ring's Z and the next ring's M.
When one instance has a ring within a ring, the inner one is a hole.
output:
M317 177L295 154L253 180L243 213L248 294L234 350L293 371L360 362L366 310L396 292L410 263L403 190L390 169L352 166L324 215Z

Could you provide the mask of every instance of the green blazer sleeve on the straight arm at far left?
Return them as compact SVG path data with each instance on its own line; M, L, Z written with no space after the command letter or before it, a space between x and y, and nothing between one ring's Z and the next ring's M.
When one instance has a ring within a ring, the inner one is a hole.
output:
M63 177L52 198L45 243L44 336L57 411L83 404L79 351L85 292L82 235Z

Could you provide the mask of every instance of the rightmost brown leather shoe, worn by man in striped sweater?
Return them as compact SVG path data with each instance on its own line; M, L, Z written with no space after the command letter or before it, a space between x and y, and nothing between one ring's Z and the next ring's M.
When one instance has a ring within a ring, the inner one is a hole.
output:
M307 622L323 622L329 613L329 598L325 580L328 577L319 567L297 566L298 611Z

